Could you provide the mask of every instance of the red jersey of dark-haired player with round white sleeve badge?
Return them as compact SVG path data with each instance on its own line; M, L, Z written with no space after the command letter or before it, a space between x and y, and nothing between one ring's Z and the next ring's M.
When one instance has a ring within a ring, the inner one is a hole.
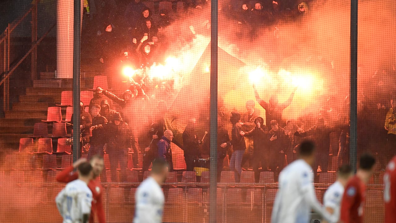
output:
M356 175L345 186L341 203L342 223L363 223L364 202L366 201L366 185Z

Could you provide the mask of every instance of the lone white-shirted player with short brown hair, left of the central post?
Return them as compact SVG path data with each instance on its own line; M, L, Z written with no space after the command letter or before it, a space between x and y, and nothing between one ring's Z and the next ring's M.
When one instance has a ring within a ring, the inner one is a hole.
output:
M164 212L164 192L161 184L168 175L168 163L163 159L152 162L150 177L137 188L133 223L161 223Z

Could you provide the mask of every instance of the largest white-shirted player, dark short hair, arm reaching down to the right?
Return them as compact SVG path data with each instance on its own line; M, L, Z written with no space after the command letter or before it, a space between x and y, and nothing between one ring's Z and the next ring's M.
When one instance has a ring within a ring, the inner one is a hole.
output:
M279 191L272 209L271 223L309 223L310 212L315 210L327 221L334 217L322 208L315 196L314 175L311 172L315 160L314 144L300 144L299 159L290 163L279 175Z

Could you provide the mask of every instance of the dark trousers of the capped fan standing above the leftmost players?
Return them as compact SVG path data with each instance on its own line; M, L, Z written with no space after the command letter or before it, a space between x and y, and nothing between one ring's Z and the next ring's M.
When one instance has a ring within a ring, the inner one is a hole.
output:
M120 182L125 182L128 169L128 149L110 148L107 153L110 160L111 181L117 182L117 167L120 164Z

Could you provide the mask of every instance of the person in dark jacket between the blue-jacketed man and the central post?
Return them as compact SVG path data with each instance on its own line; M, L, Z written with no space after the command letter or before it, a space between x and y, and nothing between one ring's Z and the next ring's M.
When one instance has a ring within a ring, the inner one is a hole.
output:
M199 145L202 143L197 139L195 133L195 118L191 119L183 131L183 151L187 171L194 170L194 160L200 156Z

